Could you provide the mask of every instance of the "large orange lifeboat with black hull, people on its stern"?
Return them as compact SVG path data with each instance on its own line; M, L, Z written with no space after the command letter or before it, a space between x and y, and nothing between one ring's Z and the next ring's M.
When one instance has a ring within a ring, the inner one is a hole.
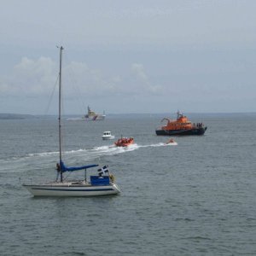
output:
M158 128L155 133L156 135L203 135L207 131L202 123L192 124L189 119L182 113L177 112L177 119L162 119L166 120L167 124Z

